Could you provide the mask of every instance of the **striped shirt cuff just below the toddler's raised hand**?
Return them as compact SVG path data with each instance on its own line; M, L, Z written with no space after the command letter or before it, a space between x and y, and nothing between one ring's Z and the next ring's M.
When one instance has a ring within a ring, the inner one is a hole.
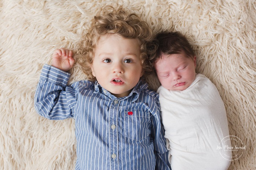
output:
M55 84L66 86L70 78L70 73L62 71L61 69L58 69L51 65L45 64L43 66L40 78L46 79Z

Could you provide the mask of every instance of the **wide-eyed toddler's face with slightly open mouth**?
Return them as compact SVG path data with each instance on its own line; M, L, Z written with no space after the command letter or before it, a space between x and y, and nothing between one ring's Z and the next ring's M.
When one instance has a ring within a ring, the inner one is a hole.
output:
M116 97L128 96L143 75L138 39L100 37L91 66L99 84Z

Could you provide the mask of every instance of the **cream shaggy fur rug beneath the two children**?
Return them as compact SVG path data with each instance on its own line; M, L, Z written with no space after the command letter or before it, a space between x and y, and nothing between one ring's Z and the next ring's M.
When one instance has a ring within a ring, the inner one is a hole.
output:
M189 37L197 53L197 72L216 85L230 135L246 146L229 170L255 170L254 0L1 0L0 170L74 169L73 120L40 117L33 106L34 92L54 49L75 49L98 9L116 4L132 8L155 33L181 31ZM71 72L70 83L85 79L78 65ZM158 87L154 77L148 80Z

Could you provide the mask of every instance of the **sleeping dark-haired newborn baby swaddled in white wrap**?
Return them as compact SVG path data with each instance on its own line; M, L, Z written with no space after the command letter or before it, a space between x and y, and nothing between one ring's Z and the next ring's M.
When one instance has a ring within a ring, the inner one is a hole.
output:
M151 50L172 170L226 170L231 151L217 150L229 135L225 107L215 85L195 73L191 45L179 32L159 33Z

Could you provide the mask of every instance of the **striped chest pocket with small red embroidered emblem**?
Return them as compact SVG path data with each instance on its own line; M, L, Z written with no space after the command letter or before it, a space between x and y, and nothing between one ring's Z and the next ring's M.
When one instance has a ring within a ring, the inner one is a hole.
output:
M125 112L125 137L132 140L142 140L149 136L151 130L150 113L131 111Z

